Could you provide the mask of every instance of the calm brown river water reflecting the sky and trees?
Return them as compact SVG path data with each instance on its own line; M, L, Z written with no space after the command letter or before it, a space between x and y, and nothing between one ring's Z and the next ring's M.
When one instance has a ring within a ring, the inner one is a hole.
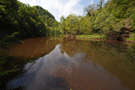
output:
M135 90L134 44L43 37L3 52L23 64L7 90Z

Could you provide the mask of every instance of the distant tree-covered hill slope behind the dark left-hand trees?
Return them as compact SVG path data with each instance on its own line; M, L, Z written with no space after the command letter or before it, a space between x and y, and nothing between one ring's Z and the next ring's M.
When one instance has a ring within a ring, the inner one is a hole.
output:
M46 36L59 35L58 22L55 20L54 16L40 6L34 6L34 8L37 10L40 19L46 26Z

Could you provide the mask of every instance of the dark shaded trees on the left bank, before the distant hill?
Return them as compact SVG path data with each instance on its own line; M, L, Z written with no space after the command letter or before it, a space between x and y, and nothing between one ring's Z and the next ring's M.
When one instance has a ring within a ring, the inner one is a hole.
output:
M0 1L0 38L19 32L19 38L43 36L46 27L37 11L17 0Z

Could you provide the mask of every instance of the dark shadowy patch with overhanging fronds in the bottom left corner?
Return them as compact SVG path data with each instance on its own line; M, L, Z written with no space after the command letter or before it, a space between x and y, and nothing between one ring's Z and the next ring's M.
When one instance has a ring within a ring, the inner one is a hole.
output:
M0 64L0 73L1 73L0 87L1 90L7 90L8 81L22 74L23 67L25 66L25 64L31 62L32 60L28 58L22 58L22 57L9 57L9 56L2 56L2 57L5 57L3 59L5 62L3 64ZM1 60L2 59L0 59L0 63L2 62ZM10 86L9 88L12 88L12 86ZM19 87L19 89L15 89L15 90L21 90L20 88L22 87Z

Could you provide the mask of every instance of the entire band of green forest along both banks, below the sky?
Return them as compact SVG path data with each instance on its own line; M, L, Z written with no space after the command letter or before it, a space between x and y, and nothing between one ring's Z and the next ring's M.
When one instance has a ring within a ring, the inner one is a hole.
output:
M0 0L0 46L18 40L73 35L99 35L114 40L135 40L135 1L100 0L84 8L84 15L61 16L60 22L40 6Z

